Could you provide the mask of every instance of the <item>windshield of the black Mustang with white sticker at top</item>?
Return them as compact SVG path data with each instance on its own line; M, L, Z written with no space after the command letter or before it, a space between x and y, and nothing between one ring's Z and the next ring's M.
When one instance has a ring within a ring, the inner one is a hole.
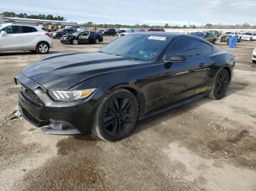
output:
M150 35L123 36L102 48L103 53L140 61L152 61L170 42L170 37Z

